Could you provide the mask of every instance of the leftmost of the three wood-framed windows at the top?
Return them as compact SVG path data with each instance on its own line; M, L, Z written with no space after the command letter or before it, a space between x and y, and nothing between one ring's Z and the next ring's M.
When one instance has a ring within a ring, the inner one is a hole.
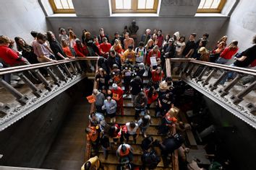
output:
M48 0L55 14L74 13L72 0Z

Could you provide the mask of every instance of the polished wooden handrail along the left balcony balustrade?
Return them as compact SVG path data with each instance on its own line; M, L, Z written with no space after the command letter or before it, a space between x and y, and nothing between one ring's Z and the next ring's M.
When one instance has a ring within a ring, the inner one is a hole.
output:
M99 57L86 57L86 58L70 58L67 60L61 60L61 61L50 61L46 63L36 63L36 64L29 64L25 66L14 66L10 68L1 68L0 69L0 75L4 75L6 73L15 73L20 71L27 71L31 69L37 69L37 68L43 68L48 66L56 66L63 63L70 63L74 61L97 61Z

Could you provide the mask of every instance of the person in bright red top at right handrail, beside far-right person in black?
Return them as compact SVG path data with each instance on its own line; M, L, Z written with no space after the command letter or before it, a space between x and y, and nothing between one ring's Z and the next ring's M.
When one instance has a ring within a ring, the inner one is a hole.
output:
M234 40L230 43L229 47L225 48L216 63L226 64L232 58L232 56L238 51L238 41Z

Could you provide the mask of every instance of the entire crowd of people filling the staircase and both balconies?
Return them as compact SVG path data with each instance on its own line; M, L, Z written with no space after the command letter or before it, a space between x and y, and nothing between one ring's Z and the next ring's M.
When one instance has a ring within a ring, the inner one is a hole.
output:
M128 169L134 169L129 167L135 166L132 164L133 148L129 145L129 136L132 136L132 143L137 143L138 136L142 134L143 166L151 169L160 161L152 146L161 148L165 165L168 164L168 154L182 146L182 137L174 133L176 126L182 125L182 122L177 121L177 109L174 107L174 84L171 77L165 76L164 73L165 58L194 58L199 61L226 64L236 54L232 66L247 68L256 65L256 45L237 53L238 42L233 40L227 45L228 37L223 36L216 42L213 50L208 50L208 33L198 40L197 34L192 33L186 42L186 37L179 32L163 36L161 30L151 32L147 29L138 43L129 37L127 30L121 35L115 32L113 40L110 41L103 28L99 30L98 36L92 36L88 30L82 30L81 39L75 35L72 28L69 28L68 32L64 28L59 28L58 36L51 31L46 34L32 31L31 35L34 40L30 43L25 42L22 37L15 37L13 41L7 36L0 36L2 68L76 57L101 56L98 59L95 76L98 88L93 89L96 109L90 113L90 125L85 131L88 142L94 149L101 144L105 158L113 143L119 145L116 156L119 158L120 167L127 166ZM17 50L14 50L14 43ZM253 43L256 43L256 36ZM95 71L90 61L86 65L90 71ZM174 74L177 70L174 65ZM231 79L233 73L229 73L228 76L223 79L222 84L226 79ZM145 77L149 79L146 84ZM7 81L9 78L4 79ZM129 95L135 108L134 120L119 125L116 122L116 115L124 115L124 97ZM155 117L161 119L158 134L168 136L163 141L153 140L147 135L147 129L152 123L148 109L153 103L156 105ZM94 166L102 167L97 156L90 158L82 169L91 169Z

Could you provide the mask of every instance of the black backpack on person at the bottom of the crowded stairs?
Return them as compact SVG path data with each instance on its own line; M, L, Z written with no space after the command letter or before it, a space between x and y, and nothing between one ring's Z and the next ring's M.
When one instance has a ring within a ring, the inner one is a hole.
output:
M144 166L155 169L158 163L161 161L160 156L157 156L154 150L144 152L141 156L141 161Z

